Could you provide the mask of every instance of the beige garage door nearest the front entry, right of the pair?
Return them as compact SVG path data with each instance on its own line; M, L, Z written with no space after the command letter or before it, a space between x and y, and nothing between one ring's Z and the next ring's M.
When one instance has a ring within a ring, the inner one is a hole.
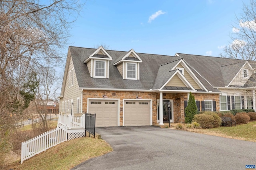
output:
M149 101L124 101L124 126L150 125Z

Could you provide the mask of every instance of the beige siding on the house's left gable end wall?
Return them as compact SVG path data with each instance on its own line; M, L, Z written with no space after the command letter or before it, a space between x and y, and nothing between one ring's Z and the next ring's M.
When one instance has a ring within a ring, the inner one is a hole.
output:
M78 82L77 82L77 79L76 79L76 73L75 73L75 70L74 70L74 85L71 86L71 87L68 87L68 84L69 84L69 72L70 70L74 69L74 65L73 65L73 61L72 61L72 58L70 59L70 64L68 66L68 74L67 74L67 77L66 77L66 85L65 85L65 89L64 89L64 94L63 94L63 98L60 100L60 105L62 105L62 101L64 101L64 111L65 111L65 101L67 101L67 109L66 109L66 113L71 113L71 100L73 100L73 113L76 113L77 112L77 98L79 97L80 98L80 101L82 100L81 99L81 92L82 90L78 90ZM68 110L68 100L70 101L70 108ZM60 112L62 112L62 106L60 107Z

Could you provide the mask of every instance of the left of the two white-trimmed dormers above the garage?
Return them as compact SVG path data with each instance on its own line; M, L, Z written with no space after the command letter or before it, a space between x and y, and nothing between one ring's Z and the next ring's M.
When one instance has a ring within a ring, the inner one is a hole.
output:
M109 61L112 57L108 52L100 46L92 53L85 61L89 70L90 76L93 78L108 78L109 77Z

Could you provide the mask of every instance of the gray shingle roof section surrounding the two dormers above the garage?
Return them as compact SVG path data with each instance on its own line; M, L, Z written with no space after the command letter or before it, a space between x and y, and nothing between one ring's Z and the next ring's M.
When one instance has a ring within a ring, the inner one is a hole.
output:
M116 66L113 66L113 64L116 59L118 59L120 56L124 57L127 52L106 50L112 57L112 61L109 61L109 78L91 78L87 65L83 62L96 49L82 47L69 47L69 49L74 64L78 86L80 88L149 90L154 85L159 66L161 64L180 59L179 57L174 56L137 53L142 59L142 63L140 63L140 80L124 80L121 74L118 72Z

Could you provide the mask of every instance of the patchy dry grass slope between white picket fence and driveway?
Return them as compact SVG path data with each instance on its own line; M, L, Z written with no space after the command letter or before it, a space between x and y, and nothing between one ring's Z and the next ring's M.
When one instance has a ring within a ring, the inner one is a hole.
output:
M82 137L52 147L22 164L16 161L0 169L15 170L68 170L96 156L112 151L112 147L102 139Z

